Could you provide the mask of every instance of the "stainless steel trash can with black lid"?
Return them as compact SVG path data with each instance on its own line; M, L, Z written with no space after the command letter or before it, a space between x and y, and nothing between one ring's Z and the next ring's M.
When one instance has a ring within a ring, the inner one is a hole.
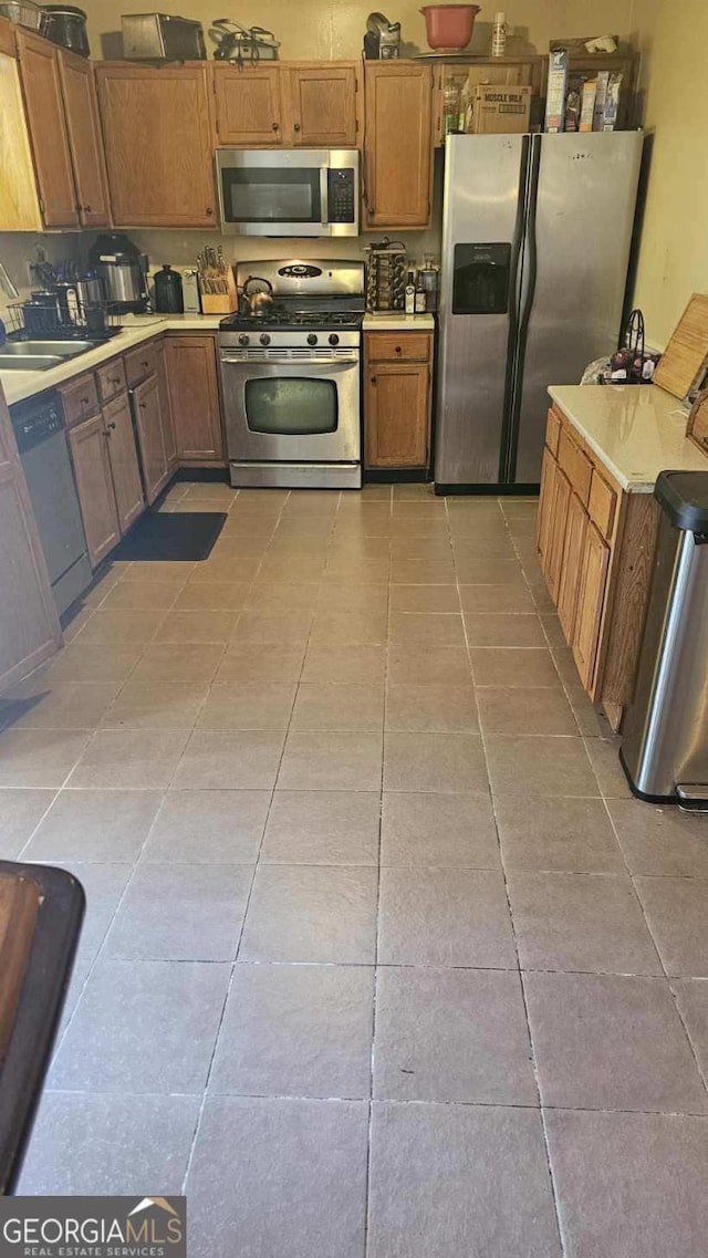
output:
M661 472L634 703L620 760L651 803L708 811L708 472Z

